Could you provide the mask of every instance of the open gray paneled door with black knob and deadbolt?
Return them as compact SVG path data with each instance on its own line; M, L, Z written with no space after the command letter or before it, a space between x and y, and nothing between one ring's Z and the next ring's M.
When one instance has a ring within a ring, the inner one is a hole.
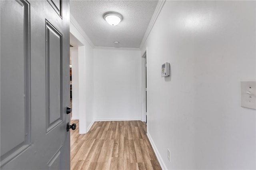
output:
M1 169L70 169L69 2L0 2Z

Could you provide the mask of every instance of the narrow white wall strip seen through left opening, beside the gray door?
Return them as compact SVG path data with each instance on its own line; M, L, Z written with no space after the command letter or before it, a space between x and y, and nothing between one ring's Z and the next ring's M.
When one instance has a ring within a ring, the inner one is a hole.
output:
M72 59L72 120L79 119L78 50L70 50Z

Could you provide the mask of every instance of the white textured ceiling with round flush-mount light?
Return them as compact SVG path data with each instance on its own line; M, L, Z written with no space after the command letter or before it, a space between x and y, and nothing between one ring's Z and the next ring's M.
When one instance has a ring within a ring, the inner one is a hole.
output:
M138 48L156 8L157 0L71 0L70 14L95 46ZM105 12L123 16L117 26L103 18ZM114 44L118 41L119 44Z

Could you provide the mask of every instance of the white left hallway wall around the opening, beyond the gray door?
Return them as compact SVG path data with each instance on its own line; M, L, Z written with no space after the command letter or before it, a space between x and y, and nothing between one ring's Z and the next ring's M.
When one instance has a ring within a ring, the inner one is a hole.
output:
M70 16L70 33L81 43L78 46L79 133L88 132L94 122L93 113L93 47Z

